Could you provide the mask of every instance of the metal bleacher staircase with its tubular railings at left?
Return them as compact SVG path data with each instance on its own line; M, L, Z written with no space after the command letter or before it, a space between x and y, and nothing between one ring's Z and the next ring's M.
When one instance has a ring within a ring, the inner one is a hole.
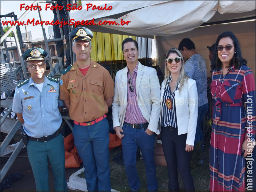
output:
M35 1L33 2L33 5L39 5L39 3L55 3L56 1ZM30 11L27 10L25 11L22 16L17 19L17 16L14 15L14 12L8 14L8 15L1 15L1 17L14 17L15 21L21 21ZM39 17L41 20L41 14L39 13ZM57 16L58 19L60 20L60 15L59 15L59 10L57 10ZM69 18L69 11L68 11L68 18ZM70 27L70 26L69 26ZM16 33L16 29L18 31L18 35ZM71 31L71 28L69 28ZM13 136L17 133L19 130L19 127L22 125L18 119L16 113L12 112L12 101L13 101L13 95L14 95L14 90L15 87L17 86L18 82L22 79L27 79L27 72L26 72L26 65L24 60L22 59L22 51L21 48L23 47L23 41L21 34L19 33L20 29L19 26L12 26L7 30L6 33L3 32L3 27L1 24L1 34L4 34L1 36L1 44L3 43L6 55L7 55L7 60L6 63L1 61L1 135L2 134L7 134L7 136L4 138L4 140L1 140L1 157L3 156L10 156L8 161L5 163L4 167L1 169L1 181L4 179L6 173L10 169L12 163L16 159L16 157L19 155L20 150L22 147L24 147L24 143L22 138L20 141L18 141L15 146L9 145ZM58 63L52 63L51 60L51 52L49 50L48 42L51 41L63 41L64 36L62 33L62 30L60 28L60 33L61 33L61 38L59 39L47 39L46 34L45 34L45 29L44 26L42 26L42 31L44 35L44 41L46 45L46 51L49 53L49 55L45 58L48 59L49 65L50 65L50 71L49 75L54 76L58 73L60 73L63 68L62 68L62 61L61 58L59 58ZM17 51L19 54L20 61L19 63L21 65L17 65L16 62L10 62L9 58L9 53L8 53L8 48L6 44L6 37L10 34L13 33ZM72 43L70 43L72 45ZM71 55L72 55L72 49L71 50ZM72 56L71 56L72 57ZM72 58L71 58L72 59ZM46 74L45 74L46 75ZM72 125L69 123L69 116L63 116L62 117L69 127L72 129ZM2 137L1 137L2 138Z

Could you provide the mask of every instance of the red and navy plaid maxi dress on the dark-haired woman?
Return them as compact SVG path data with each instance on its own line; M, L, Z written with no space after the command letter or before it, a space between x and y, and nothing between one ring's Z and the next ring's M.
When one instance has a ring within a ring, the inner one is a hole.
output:
M223 77L222 71L215 69L212 72L211 94L210 190L244 191L246 172L241 146L248 138L246 127L252 127L251 133L255 134L255 81L252 70L245 65L237 69L232 66ZM245 108L245 101L253 102L246 103ZM247 107L252 112L250 124L246 116Z

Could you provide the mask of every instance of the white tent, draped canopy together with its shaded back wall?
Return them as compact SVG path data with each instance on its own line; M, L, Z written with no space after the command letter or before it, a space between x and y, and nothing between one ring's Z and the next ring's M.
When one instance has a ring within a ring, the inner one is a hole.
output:
M86 10L86 4L107 7L111 10ZM164 54L178 47L182 38L188 37L196 51L208 63L206 46L215 43L224 31L233 31L241 43L243 57L255 74L255 1L82 1L83 9L71 11L76 21L111 20L128 25L84 26L92 31L148 37L156 39L156 63L164 71ZM250 21L250 22L248 22Z

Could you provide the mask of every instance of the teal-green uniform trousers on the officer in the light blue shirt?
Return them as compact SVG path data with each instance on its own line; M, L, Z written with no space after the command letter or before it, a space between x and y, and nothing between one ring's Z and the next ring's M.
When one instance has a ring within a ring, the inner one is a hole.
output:
M67 191L65 178L65 150L63 137L59 134L47 142L28 141L28 160L32 167L37 191L49 191L49 158L54 175L55 191Z

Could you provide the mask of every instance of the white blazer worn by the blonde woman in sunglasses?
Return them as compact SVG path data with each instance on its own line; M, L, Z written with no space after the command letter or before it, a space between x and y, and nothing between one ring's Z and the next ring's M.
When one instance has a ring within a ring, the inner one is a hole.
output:
M167 81L167 80L166 80ZM161 113L164 94L164 81L161 86ZM180 84L178 85L180 87ZM178 125L178 135L188 133L186 144L194 145L198 115L198 96L196 81L189 78L182 90L175 91L175 106ZM161 117L159 128L161 130Z

